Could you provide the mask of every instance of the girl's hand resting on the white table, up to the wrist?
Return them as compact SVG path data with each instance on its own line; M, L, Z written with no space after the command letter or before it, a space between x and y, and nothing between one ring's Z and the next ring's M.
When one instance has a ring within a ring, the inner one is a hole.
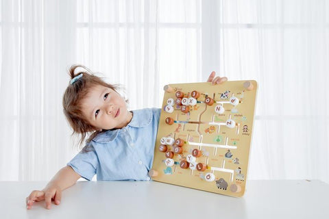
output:
M62 190L58 187L45 188L44 190L34 190L26 198L26 208L31 209L33 203L44 201L46 202L46 208L51 209L51 200L55 202L56 205L60 205L60 199L62 198Z

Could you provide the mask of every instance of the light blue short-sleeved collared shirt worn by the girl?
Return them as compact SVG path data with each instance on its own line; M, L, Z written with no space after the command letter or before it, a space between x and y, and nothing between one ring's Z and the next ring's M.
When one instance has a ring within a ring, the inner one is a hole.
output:
M134 110L122 129L100 133L71 162L77 174L91 180L150 180L161 109Z

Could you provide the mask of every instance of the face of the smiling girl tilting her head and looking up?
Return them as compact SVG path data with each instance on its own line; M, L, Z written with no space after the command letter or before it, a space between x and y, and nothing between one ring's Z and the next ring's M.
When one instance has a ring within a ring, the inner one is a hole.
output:
M82 113L90 125L100 129L121 129L132 120L125 100L111 88L93 86L82 100Z

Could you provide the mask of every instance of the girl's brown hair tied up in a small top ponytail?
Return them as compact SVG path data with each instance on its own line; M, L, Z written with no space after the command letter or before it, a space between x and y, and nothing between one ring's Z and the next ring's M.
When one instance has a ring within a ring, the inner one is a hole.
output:
M77 68L82 68L82 70L79 70L77 72ZM80 141L79 141L79 148L81 149L83 146L83 142L88 134L90 134L90 137L86 141L87 143L90 142L97 134L107 131L97 130L96 127L93 125L90 125L86 118L84 118L82 114L82 104L81 101L84 99L84 96L88 94L88 91L90 88L93 88L93 86L100 85L104 87L111 88L115 92L121 88L121 86L117 84L110 84L106 83L101 79L101 77L98 77L94 75L94 73L82 65L73 65L69 68L69 75L71 79L76 77L77 75L83 74L82 77L77 79L74 83L71 84L71 80L69 83L69 86L66 88L64 95L63 95L63 112L66 117L66 120L69 122L69 125L73 129L73 132L71 136L77 134L80 135Z

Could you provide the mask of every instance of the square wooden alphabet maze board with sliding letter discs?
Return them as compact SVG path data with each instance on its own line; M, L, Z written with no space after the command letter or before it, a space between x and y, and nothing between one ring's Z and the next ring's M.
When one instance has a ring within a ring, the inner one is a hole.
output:
M167 91L150 171L152 179L228 196L243 196L252 141L256 81L226 81L219 85L176 83L164 88ZM184 96L177 97L180 92ZM215 102L210 105L212 100ZM166 120L172 124L167 124Z

